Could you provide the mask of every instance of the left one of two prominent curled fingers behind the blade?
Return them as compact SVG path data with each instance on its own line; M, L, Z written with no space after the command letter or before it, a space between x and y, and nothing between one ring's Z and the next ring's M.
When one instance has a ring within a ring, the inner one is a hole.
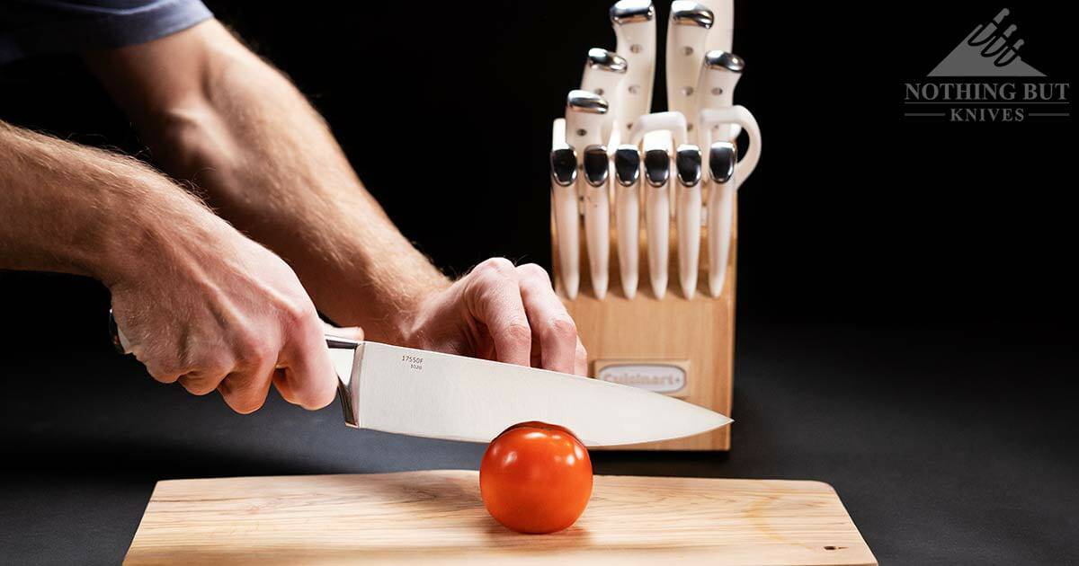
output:
M490 259L468 274L464 296L472 315L490 332L495 359L529 365L532 330L517 279L517 270L509 260Z

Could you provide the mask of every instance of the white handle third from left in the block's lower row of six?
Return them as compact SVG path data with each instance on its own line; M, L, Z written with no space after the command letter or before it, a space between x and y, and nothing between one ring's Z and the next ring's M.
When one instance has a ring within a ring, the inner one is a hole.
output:
M614 152L615 224L618 229L618 270L626 299L637 295L641 236L641 150L619 146Z

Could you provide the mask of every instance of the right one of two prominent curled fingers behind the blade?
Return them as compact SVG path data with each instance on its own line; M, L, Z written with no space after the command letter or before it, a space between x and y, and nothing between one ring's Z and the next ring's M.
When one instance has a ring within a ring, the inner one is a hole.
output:
M524 310L532 332L538 336L541 367L562 373L577 372L577 327L555 294L547 272L529 263L517 267ZM581 347L584 350L584 347Z

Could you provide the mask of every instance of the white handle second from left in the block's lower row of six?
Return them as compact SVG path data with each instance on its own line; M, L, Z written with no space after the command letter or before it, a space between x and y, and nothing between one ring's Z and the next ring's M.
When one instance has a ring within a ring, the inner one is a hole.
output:
M611 161L605 146L585 148L585 244L592 292L606 296L607 263L611 257Z

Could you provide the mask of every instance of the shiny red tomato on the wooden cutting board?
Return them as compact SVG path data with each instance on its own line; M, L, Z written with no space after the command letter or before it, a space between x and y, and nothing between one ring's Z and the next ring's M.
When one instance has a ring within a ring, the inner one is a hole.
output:
M491 516L518 533L555 533L581 516L592 495L592 461L568 429L530 420L491 441L479 467Z

